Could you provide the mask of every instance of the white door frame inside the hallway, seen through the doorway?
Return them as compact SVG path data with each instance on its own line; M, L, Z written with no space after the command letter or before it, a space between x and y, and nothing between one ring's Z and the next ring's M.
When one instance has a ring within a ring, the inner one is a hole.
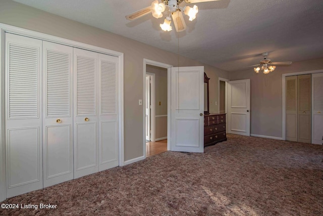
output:
M155 142L155 74L154 73L149 73L146 72L146 76L150 77L150 103L151 103L151 107L150 107L150 129L151 129L151 134L150 134L150 141L151 142ZM146 93L146 89L145 89L145 93ZM145 103L144 105L146 105L146 97L145 97ZM146 107L146 106L145 106ZM145 136L146 139L146 136Z

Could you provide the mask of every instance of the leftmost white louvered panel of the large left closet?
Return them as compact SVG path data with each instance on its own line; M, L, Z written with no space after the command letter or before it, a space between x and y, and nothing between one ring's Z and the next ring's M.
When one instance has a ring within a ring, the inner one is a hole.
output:
M38 190L42 182L42 41L5 34L7 197Z

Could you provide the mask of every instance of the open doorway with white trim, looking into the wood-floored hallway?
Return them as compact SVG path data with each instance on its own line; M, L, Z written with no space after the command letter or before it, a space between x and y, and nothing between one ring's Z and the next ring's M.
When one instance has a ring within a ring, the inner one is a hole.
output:
M144 59L144 155L168 151L168 68Z

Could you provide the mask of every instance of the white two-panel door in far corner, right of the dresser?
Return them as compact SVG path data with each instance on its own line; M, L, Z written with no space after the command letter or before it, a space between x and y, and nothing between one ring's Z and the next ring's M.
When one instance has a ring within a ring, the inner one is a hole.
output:
M250 136L250 79L228 82L228 133Z

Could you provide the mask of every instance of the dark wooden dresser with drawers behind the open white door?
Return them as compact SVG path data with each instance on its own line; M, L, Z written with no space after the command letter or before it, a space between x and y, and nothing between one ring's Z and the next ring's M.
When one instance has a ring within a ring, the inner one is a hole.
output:
M204 115L204 147L227 140L226 114Z

